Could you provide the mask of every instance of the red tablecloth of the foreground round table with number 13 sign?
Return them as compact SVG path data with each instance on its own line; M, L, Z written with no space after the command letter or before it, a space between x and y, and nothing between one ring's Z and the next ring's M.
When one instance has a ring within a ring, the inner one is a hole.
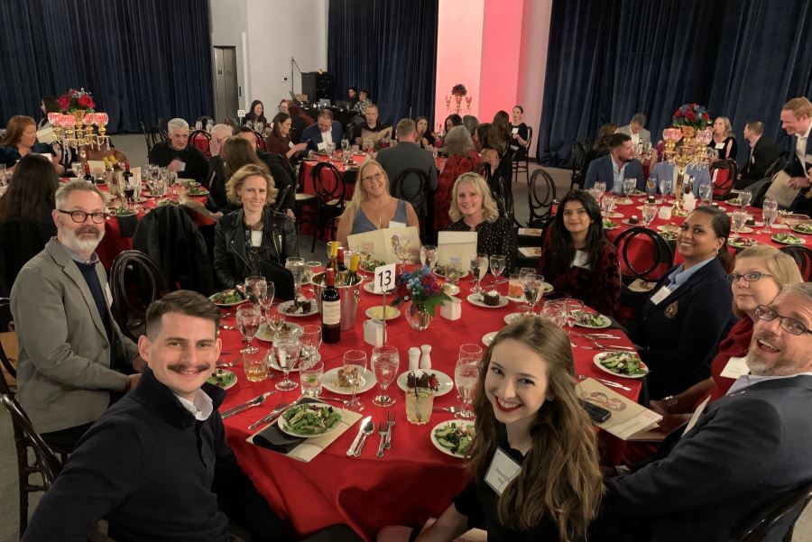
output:
M484 280L485 287L490 283L489 280L493 279L489 277ZM501 329L504 326L503 317L518 311L517 305L512 301L504 308L480 308L472 305L465 299L472 285L471 280L460 281L462 291L457 297L463 301L462 317L458 320L450 321L438 314L424 332L411 330L403 315L389 323L388 344L397 346L399 350L399 373L408 369L408 349L411 346L430 344L432 369L453 378L459 345L482 345L483 335ZM308 289L306 287L306 291ZM499 289L506 293L507 284L500 285ZM364 343L364 311L380 305L382 297L364 289L361 291L355 326L341 332L339 343L322 344L319 350L325 372L340 367L342 356L347 350L362 349L368 356L372 352L372 346ZM540 306L537 310L539 308ZM234 308L225 310L224 323L234 325L234 314ZM319 316L288 317L288 321L300 325L318 324ZM622 338L612 344L631 345L622 332L613 332ZM239 332L223 330L221 336L223 351L226 353L221 356L222 361L238 359L241 347ZM585 348L589 342L576 335L572 335L571 339L577 344L573 348L577 374L621 382L629 390L614 390L637 400L641 389L640 381L613 377L600 371L593 362L597 352ZM271 345L258 339L254 339L254 344L263 350ZM274 372L275 378L272 380L249 382L245 379L242 363L231 370L237 375L238 381L227 391L221 410L251 400L263 391L272 390L275 382L281 379L281 373ZM291 378L298 381L298 374L291 373ZM372 403L378 392L379 387L375 385L360 395L365 407L362 414L372 415L376 426L387 412L387 409L375 407ZM385 525L418 525L431 516L438 517L469 480L464 462L442 454L429 439L431 428L453 419L453 415L434 412L428 425L411 425L405 416L404 394L396 382L389 387L389 392L397 400L390 407L395 413L396 424L392 430L392 449L386 452L383 459L375 457L377 433L368 438L359 458L346 457L346 450L357 433L357 423L309 463L302 463L246 442L245 439L251 434L247 427L268 414L281 401L290 403L298 399L299 388L287 392L277 391L262 407L248 409L227 418L224 423L228 444L234 450L240 466L273 509L282 517L290 519L301 534L309 534L340 521L350 525L367 540L374 540L377 531ZM335 396L333 393L329 395ZM458 405L456 391L451 390L436 398L434 404L435 407ZM260 427L260 430L263 428ZM623 441L604 432L600 436L604 463L619 463Z

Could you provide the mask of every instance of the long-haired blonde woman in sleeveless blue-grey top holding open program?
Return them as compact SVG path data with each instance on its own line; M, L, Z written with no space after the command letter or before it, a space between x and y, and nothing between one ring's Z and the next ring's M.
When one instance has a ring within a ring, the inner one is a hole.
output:
M353 198L338 219L337 239L346 246L347 235L394 227L390 224L392 222L420 228L411 203L392 198L389 178L381 164L374 160L365 161L358 170Z

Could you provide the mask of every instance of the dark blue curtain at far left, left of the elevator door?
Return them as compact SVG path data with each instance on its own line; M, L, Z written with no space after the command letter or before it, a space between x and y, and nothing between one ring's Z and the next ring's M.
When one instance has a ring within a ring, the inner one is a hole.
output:
M3 0L0 21L4 126L71 87L93 93L113 133L214 109L208 0Z

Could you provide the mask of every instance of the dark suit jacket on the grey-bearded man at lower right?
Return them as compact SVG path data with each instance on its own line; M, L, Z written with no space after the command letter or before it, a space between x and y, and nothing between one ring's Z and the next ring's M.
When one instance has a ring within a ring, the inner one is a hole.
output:
M607 481L592 539L738 540L765 510L812 483L810 409L808 375L761 381L716 400L665 458Z

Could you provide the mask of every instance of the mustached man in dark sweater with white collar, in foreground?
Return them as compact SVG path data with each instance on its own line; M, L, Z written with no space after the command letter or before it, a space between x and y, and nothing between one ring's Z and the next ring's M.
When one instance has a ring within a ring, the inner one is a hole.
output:
M142 381L82 439L23 540L88 540L100 519L115 540L228 542L231 520L255 541L293 539L226 444L217 412L226 392L206 382L219 321L197 292L152 303L138 341Z

